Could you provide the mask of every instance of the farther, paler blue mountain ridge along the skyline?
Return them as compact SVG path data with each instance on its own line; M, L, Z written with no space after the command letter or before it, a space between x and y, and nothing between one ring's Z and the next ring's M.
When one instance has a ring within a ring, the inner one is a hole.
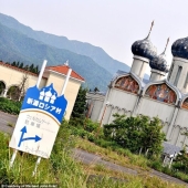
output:
M2 13L0 13L0 23L28 35L29 38L41 41L48 45L52 45L59 49L66 49L76 54L90 56L100 66L104 67L112 74L116 73L117 70L122 70L125 72L129 71L128 65L112 59L103 49L94 46L90 43L69 40L65 36L58 36L42 31L34 31L31 28L21 24L12 17L8 17Z

